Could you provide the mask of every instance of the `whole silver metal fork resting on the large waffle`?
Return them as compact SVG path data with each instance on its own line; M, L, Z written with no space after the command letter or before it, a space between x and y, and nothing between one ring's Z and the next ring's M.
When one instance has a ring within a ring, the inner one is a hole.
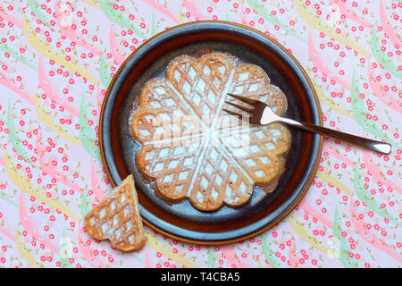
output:
M351 135L348 133L340 132L338 130L331 130L329 128L314 125L314 124L308 123L308 122L297 122L295 120L281 117L281 116L275 114L273 112L272 108L270 106L264 104L264 102L261 102L261 101L255 100L255 99L251 99L251 98L247 98L247 97L240 97L238 95L233 95L231 93L228 93L228 95L230 97L234 97L234 98L238 99L239 101L247 104L247 106L243 106L243 105L234 104L230 101L225 101L226 104L232 105L232 106L237 107L240 110L246 112L248 115L247 116L248 122L251 124L266 125L266 124L269 124L272 122L282 122L282 123L286 123L291 126L295 126L295 127L298 127L298 128L304 129L304 130L308 130L308 131L311 131L314 133L318 133L318 134L321 134L324 136L330 136L335 139L339 139L339 140L347 141L352 144L363 146L363 147L369 148L376 152L380 152L380 153L384 153L384 154L389 154L389 152L390 152L391 146L389 143L384 143L384 142L376 141L376 140L372 140L372 139L365 139L363 137L358 137L358 136ZM230 111L228 109L224 109L224 108L222 110L228 114L238 116L240 120L244 120L243 114L238 114L238 113L232 112L232 111Z

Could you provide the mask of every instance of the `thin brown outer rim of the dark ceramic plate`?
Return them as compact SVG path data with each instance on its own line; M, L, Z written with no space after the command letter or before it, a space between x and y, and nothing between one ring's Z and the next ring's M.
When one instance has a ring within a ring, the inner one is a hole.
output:
M140 46L138 46L136 48L135 51L133 51L120 65L119 69L115 72L112 80L109 83L109 86L106 89L106 93L105 93L105 97L104 100L102 102L102 107L101 107L101 111L100 111L100 117L99 117L99 147L100 147L100 155L101 155L101 159L102 159L102 164L104 164L105 167L105 171L107 174L107 177L109 179L109 181L112 184L112 187L115 188L117 185L115 183L115 181L113 180L113 176L111 174L110 171L110 167L107 164L106 161L106 156L105 156L105 147L104 147L104 128L103 128L103 122L104 122L104 118L105 118L105 108L106 108L106 103L108 101L108 97L110 96L111 93L111 89L113 88L113 84L114 81L118 78L119 74L121 73L121 71L124 69L124 67L126 66L126 63L128 63L131 59L131 57L133 57L134 55L136 55L138 53L138 51L141 50L141 47L145 46L150 40L159 37L161 35L163 35L164 33L167 33L168 31L172 31L172 29L180 29L183 28L185 26L190 26L193 24L197 24L197 23L218 23L218 24L225 24L225 25L233 25L233 26L237 26L239 28L242 29L248 29L251 30L255 33L258 33L260 36L263 36L264 38L266 38L268 41L272 42L273 45L278 46L279 48L281 48L281 51L284 52L285 54L287 54L290 59L293 61L293 63L295 63L297 65L297 68L299 69L299 71L302 72L303 76L306 79L306 82L309 86L309 88L311 88L312 94L314 96L314 103L316 105L317 111L318 111L318 119L319 119L319 124L320 126L322 126L322 109L321 109L321 105L320 105L320 101L317 95L317 92L314 88L314 83L312 80L310 80L306 70L303 68L303 66L297 61L296 57L294 55L291 55L289 53L289 51L282 46L280 43L278 43L277 41L275 41L273 38L269 37L268 35L264 34L263 32L261 32L258 29L254 29L251 27L247 27L243 24L239 24L237 22L232 22L232 21L190 21L190 22L186 22L186 23L182 23L179 25L176 25L170 29L165 29L157 34L155 34L153 37L148 38L147 41L145 41L144 43L142 43ZM197 244L197 245L206 245L206 246L211 246L211 245L226 245L226 244L231 244L231 243L235 243L235 242L239 242L242 240L247 240L249 238L255 237L265 231L268 231L269 229L271 229L273 226L277 225L278 223L280 223L286 216L288 216L290 214L291 211L293 211L293 209L297 206L297 204L305 197L307 190L310 188L312 181L314 180L314 176L315 173L318 170L318 165L320 163L320 158L322 156L322 143L323 143L323 139L322 136L320 136L319 138L319 145L318 145L318 149L317 149L317 156L314 162L314 166L313 166L313 171L309 174L308 176L308 180L306 181L306 186L301 190L301 192L299 193L298 197L293 201L293 203L288 207L288 209L283 212L281 215L279 215L275 220L273 220L271 223L267 223L266 225L264 225L264 227L256 230L256 231L252 231L246 235L241 235L237 238L233 238L233 239L229 239L229 240L197 240L197 239L188 239L185 237L181 237L179 235L176 235L172 232L169 231L164 231L163 229L157 227L154 223L148 222L147 219L145 219L143 217L143 215L141 214L141 218L143 223L145 223L148 227L150 227L151 229L158 231L159 233L162 233L165 236L168 236L174 240L180 240L186 243L191 243L191 244Z

